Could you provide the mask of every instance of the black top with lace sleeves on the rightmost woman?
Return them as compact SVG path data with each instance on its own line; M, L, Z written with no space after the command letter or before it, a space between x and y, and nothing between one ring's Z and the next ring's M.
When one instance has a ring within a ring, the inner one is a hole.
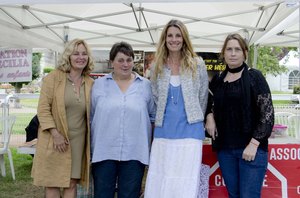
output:
M218 137L214 150L245 148L251 138L268 150L268 138L274 124L274 109L269 86L260 71L244 64L240 79L224 82L227 70L210 83L214 96L208 101L207 114L214 113Z

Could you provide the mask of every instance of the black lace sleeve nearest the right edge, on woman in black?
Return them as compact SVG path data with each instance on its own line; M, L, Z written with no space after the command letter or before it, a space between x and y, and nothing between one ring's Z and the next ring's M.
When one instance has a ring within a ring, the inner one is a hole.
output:
M255 69L249 70L251 87L257 106L257 125L254 127L253 138L258 141L270 137L274 125L274 108L269 85L262 73Z

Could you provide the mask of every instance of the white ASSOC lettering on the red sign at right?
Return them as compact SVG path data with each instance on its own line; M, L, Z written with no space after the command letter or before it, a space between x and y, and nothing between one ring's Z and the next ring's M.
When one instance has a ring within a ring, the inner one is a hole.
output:
M300 148L272 148L270 160L300 160Z

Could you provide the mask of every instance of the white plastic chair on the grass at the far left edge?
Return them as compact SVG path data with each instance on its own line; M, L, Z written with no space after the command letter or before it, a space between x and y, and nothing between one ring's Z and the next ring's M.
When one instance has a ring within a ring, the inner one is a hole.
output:
M15 178L15 169L14 169L12 154L11 154L11 151L9 148L9 140L10 140L10 135L12 133L12 128L13 128L15 121L16 121L15 116L0 117L0 168L1 168L1 174L3 177L6 176L4 154L7 153L13 180L15 180L16 178Z

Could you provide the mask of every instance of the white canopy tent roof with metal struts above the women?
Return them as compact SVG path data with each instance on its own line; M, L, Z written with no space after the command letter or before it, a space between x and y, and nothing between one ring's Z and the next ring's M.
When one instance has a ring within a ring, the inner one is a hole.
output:
M219 51L232 32L250 45L300 45L299 0L7 0L0 2L0 47L60 51L66 41L83 38L93 49L123 40L153 51L172 18L186 24L198 52Z

